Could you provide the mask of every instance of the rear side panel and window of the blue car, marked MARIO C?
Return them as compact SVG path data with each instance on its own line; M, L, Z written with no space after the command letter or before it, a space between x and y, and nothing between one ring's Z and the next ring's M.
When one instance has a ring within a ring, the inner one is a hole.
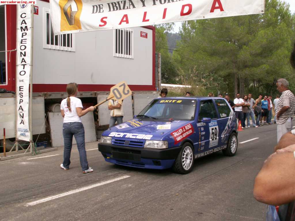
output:
M219 146L227 143L227 138L230 135L232 124L235 123L233 110L225 99L214 99L219 116L220 133Z

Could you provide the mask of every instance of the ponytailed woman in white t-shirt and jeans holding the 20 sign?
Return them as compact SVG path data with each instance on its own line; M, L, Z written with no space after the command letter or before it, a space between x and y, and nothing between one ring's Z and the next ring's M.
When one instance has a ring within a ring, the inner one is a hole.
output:
M88 166L86 150L85 150L85 132L81 121L81 117L89 111L93 111L93 106L82 110L82 102L79 98L76 98L78 94L78 85L76 83L69 83L67 85L68 97L63 99L60 104L60 112L63 116L63 163L60 164L60 168L68 170L70 166L70 157L72 150L73 136L75 136L77 142L77 148L80 155L80 164L83 173L91 173L93 169Z

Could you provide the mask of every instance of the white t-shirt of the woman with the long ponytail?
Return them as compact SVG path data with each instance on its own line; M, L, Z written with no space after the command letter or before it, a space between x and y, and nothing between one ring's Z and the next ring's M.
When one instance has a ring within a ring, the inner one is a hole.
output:
M63 123L69 122L81 122L81 118L78 116L76 108L83 108L82 102L79 98L70 97L71 99L71 112L68 109L67 98L63 99L60 103L60 110L63 110L65 117L63 118Z

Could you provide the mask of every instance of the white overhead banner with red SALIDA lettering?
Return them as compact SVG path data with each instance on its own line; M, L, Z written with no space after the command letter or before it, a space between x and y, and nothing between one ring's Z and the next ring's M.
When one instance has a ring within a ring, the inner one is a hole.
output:
M264 0L50 0L55 34L264 12Z

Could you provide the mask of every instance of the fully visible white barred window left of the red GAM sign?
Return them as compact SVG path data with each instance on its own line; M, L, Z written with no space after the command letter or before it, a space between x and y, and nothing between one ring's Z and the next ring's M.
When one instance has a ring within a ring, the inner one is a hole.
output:
M133 30L130 28L115 29L114 30L114 56L134 58L133 48L134 48Z

